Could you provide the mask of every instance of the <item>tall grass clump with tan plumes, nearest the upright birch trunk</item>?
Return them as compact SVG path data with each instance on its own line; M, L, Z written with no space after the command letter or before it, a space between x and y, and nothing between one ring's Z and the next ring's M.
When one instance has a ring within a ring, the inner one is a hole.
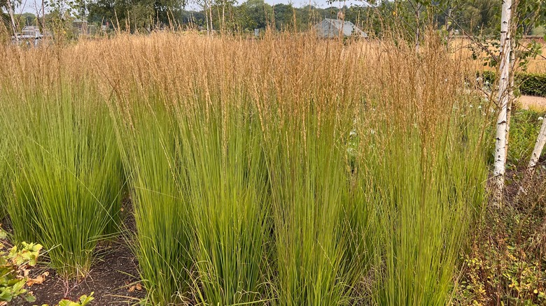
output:
M465 85L471 73L440 43L427 41L423 54L388 50L381 68L367 71L376 81L357 124L358 180L377 216L372 297L446 305L484 203L487 118Z

